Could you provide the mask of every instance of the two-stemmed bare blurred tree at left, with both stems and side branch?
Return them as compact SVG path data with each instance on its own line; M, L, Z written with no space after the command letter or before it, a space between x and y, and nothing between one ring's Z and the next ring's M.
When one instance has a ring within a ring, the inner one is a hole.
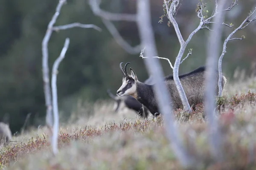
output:
M54 75L52 75L52 87L55 89L52 89L51 92L51 88L50 88L50 78L49 78L49 65L48 65L48 58L49 58L49 54L48 54L48 42L49 39L52 35L52 31L58 31L58 30L62 30L62 29L68 29L68 28L73 28L73 27L81 27L81 28L94 28L98 31L100 31L100 28L97 26L94 26L92 24L81 24L81 23L72 23L72 24L67 24L64 26L56 26L54 27L54 24L56 23L56 20L60 14L61 11L61 7L64 5L64 3L66 3L66 0L59 0L59 3L56 7L55 10L55 14L52 17L52 20L49 22L48 26L47 26L47 31L46 34L44 36L44 39L42 41L42 71L43 71L43 81L44 81L44 95L45 95L45 104L47 107L47 113L46 113L46 124L47 127L49 128L51 135L51 141L52 141L52 151L54 154L57 153L57 140L58 140L58 106L57 106L57 110L56 110L56 103L57 103L57 89L55 88L54 82L56 82L56 78L54 77ZM61 51L61 56L64 56L67 48L69 45L69 39L66 39L65 41L65 45L64 48ZM60 56L60 57L61 57ZM60 58L59 57L59 58ZM62 59L60 59L61 61ZM60 62L59 61L59 62ZM57 62L57 68L58 68L58 62ZM56 64L55 64L56 65ZM54 67L56 67L55 65L53 65ZM54 72L53 72L54 73ZM52 94L53 93L53 94ZM52 97L54 97L54 117L52 115Z

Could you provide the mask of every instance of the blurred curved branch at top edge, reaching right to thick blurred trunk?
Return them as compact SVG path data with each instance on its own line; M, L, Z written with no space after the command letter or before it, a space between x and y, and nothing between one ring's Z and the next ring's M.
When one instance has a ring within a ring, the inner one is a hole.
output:
M101 8L99 8L99 4L100 0L89 0L89 5L93 10L93 13L99 17L112 21L136 21L136 14L114 14L111 12L103 11Z

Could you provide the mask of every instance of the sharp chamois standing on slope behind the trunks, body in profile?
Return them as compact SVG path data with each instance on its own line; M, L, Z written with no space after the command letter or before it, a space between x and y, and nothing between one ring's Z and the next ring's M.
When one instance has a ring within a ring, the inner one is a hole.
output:
M120 69L123 74L122 85L116 91L117 96L131 95L137 99L141 104L145 105L148 110L157 116L160 114L157 106L157 99L154 95L153 85L146 85L137 79L135 71L130 68L131 75L127 74L126 67L130 62L125 64L125 69L122 68L122 62L120 63ZM205 93L205 75L206 69L204 66L195 69L187 74L179 76L181 85L185 91L189 105L195 109L195 105L204 102ZM218 71L216 71L216 95L218 95ZM222 76L222 88L226 85L227 79ZM179 93L177 91L174 79L172 75L164 78L169 95L172 99L172 108L177 109L183 107Z

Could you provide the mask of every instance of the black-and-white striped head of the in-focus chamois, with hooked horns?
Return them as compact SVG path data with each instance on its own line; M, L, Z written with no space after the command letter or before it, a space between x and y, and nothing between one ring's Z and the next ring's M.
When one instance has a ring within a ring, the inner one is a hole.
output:
M120 69L123 74L123 79L122 79L122 85L116 91L117 96L126 96L126 95L131 95L136 98L136 81L137 81L137 76L132 68L130 68L131 75L127 74L126 67L128 64L131 64L130 62L127 62L125 64L125 69L122 68L122 62L120 63Z

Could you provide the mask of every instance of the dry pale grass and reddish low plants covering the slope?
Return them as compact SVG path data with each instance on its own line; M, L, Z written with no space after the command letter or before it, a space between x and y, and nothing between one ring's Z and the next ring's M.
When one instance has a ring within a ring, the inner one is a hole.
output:
M198 162L197 169L256 169L254 81L228 84L226 96L217 100L224 140L222 163L216 163L209 154L203 106L198 105L190 115L175 111L175 123L185 147ZM239 89L247 91L236 95ZM78 105L71 121L61 124L57 156L49 151L47 129L43 127L15 136L12 140L18 142L3 147L0 167L10 170L182 169L169 147L161 117L143 120L132 111L113 113L113 103L105 101L97 102L90 110L93 116L84 116L88 107Z

